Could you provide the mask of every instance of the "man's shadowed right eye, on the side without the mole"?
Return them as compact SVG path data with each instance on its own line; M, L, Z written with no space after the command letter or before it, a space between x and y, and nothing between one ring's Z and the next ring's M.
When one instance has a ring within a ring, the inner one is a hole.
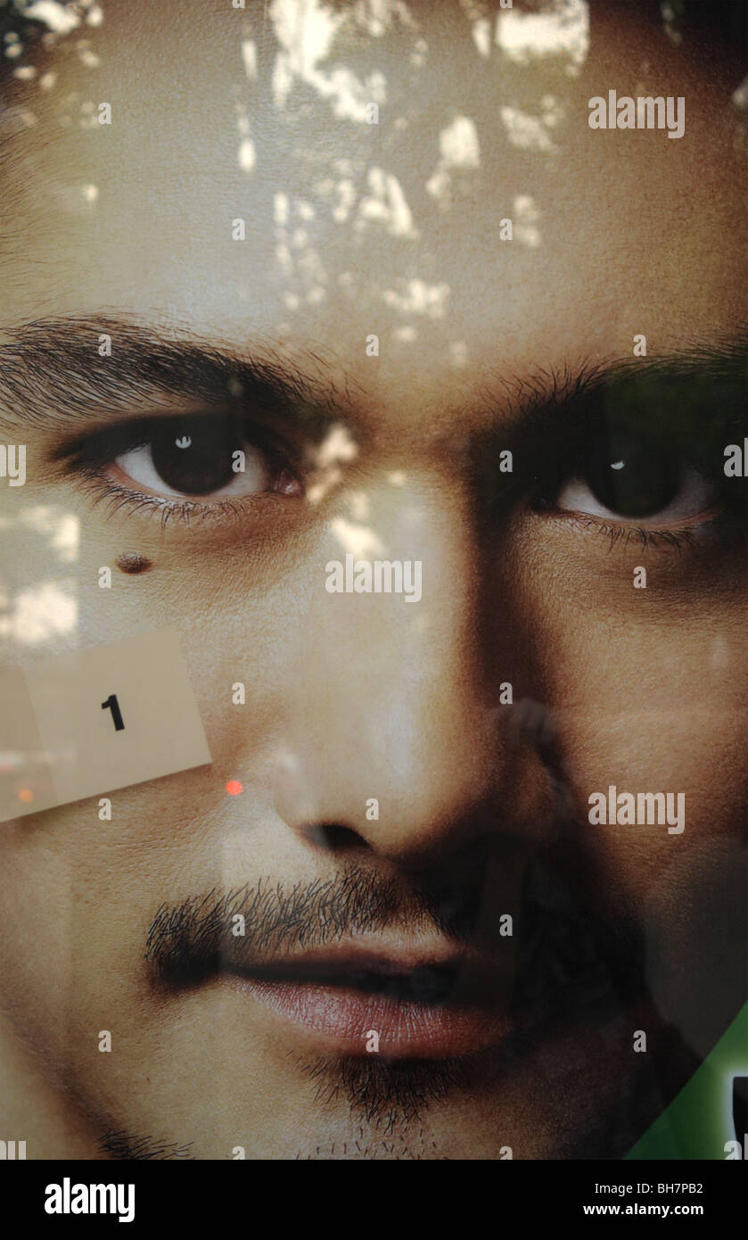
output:
M684 523L707 513L718 496L718 485L672 448L618 432L593 439L555 507L599 520Z

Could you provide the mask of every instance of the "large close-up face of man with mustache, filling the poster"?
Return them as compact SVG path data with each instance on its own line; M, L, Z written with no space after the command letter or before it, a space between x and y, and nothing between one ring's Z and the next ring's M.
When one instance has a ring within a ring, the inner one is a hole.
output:
M738 82L585 4L264 9L119 0L6 91L2 658L175 625L213 756L0 827L9 1114L622 1156L746 999L742 388L684 361L744 324ZM589 128L608 89L685 134ZM685 830L591 823L611 785Z

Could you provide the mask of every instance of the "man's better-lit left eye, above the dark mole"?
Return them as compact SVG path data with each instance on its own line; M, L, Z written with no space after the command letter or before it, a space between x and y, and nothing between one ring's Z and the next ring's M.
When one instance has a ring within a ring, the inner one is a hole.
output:
M264 438L264 443L258 440ZM105 433L89 455L103 474L141 494L218 501L301 485L269 436L230 417L154 418Z

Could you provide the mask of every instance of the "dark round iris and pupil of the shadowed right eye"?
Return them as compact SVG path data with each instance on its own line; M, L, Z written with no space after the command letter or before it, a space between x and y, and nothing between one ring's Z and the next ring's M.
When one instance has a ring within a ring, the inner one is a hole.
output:
M598 440L585 481L599 503L625 517L651 517L675 498L680 466L672 453L629 435Z

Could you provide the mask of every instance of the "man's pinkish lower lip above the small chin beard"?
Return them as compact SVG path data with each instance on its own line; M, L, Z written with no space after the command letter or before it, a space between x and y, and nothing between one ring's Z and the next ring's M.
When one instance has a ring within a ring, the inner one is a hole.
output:
M333 986L225 980L337 1054L365 1054L369 1043L388 1059L445 1059L495 1045L508 1029L507 1019L479 1008L398 1002Z

